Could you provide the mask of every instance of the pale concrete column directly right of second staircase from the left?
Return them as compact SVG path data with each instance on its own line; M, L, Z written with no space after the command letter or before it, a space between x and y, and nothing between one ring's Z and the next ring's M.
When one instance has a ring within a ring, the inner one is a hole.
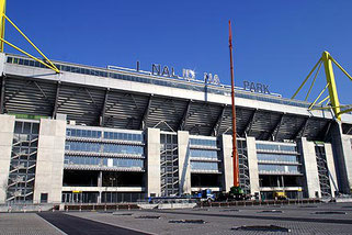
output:
M190 134L178 132L180 194L191 194Z

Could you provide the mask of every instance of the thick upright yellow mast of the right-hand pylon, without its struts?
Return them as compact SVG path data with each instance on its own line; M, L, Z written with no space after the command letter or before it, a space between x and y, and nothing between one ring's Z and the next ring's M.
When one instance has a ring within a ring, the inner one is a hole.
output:
M327 77L327 83L329 85L329 96L330 96L331 107L337 119L341 120L340 108L339 108L340 101L339 101L337 85L334 81L332 63L330 59L331 56L328 52L323 52L321 58L325 67L325 74Z

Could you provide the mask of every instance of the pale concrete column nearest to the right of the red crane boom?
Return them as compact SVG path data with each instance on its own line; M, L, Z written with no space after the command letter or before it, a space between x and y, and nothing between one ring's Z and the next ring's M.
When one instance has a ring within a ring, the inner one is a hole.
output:
M256 138L247 137L246 143L248 154L250 193L256 194L256 192L260 193Z

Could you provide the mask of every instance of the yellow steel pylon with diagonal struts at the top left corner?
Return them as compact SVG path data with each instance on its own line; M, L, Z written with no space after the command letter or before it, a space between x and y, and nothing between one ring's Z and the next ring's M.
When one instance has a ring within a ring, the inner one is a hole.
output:
M23 53L24 55L31 57L32 59L43 64L44 66L48 67L49 69L53 69L56 72L60 72L60 70L48 59L42 51L34 45L34 43L5 15L5 5L7 5L7 0L0 0L0 52L3 53L3 46L4 44L13 47L14 49ZM39 59L30 53L21 49L20 47L13 45L12 43L8 42L4 40L4 26L5 26L5 21L9 21L9 23L37 51L45 60Z

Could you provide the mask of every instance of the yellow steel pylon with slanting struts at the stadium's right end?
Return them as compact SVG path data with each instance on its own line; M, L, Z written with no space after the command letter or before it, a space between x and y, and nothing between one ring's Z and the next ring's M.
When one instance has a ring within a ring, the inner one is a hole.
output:
M310 91L316 82L317 76L319 74L320 67L323 64L323 68L325 68L325 74L326 74L326 78L327 78L327 85L326 87L321 90L321 92L319 93L319 96L315 99L315 101L309 105L309 110L314 110L314 109L332 109L336 118L338 120L341 120L341 114L347 113L347 112L351 112L352 108L351 104L350 105L340 105L340 101L339 101L339 94L338 94L338 89L337 89L337 85L336 85L336 80L334 80L334 74L333 74L333 68L332 68L332 63L338 66L338 68L340 68L340 70L348 76L348 78L351 79L352 81L352 77L342 68L341 65L339 65L339 63L337 63L337 60L334 60L332 58L332 56L328 53L328 52L323 52L322 56L319 58L318 63L314 66L314 68L310 70L310 72L308 74L308 76L306 77L306 79L303 81L303 83L299 86L299 88L297 89L297 91L294 93L294 96L291 99L294 99L297 93L299 92L299 90L302 90L302 88L304 87L304 85L307 82L307 80L309 79L309 77L313 75L313 72L316 70L316 75L314 77L314 80L311 81L311 85L309 87L309 90L307 92L306 99L308 99ZM326 97L325 99L322 99L318 104L320 105L321 103L323 103L325 101L327 101L327 104L330 102L330 105L325 105L325 107L315 107L316 103L318 102L318 100L320 99L320 97L322 96L322 93L326 91L326 89L328 88L329 90L329 96ZM341 111L342 108L347 108L344 110Z

